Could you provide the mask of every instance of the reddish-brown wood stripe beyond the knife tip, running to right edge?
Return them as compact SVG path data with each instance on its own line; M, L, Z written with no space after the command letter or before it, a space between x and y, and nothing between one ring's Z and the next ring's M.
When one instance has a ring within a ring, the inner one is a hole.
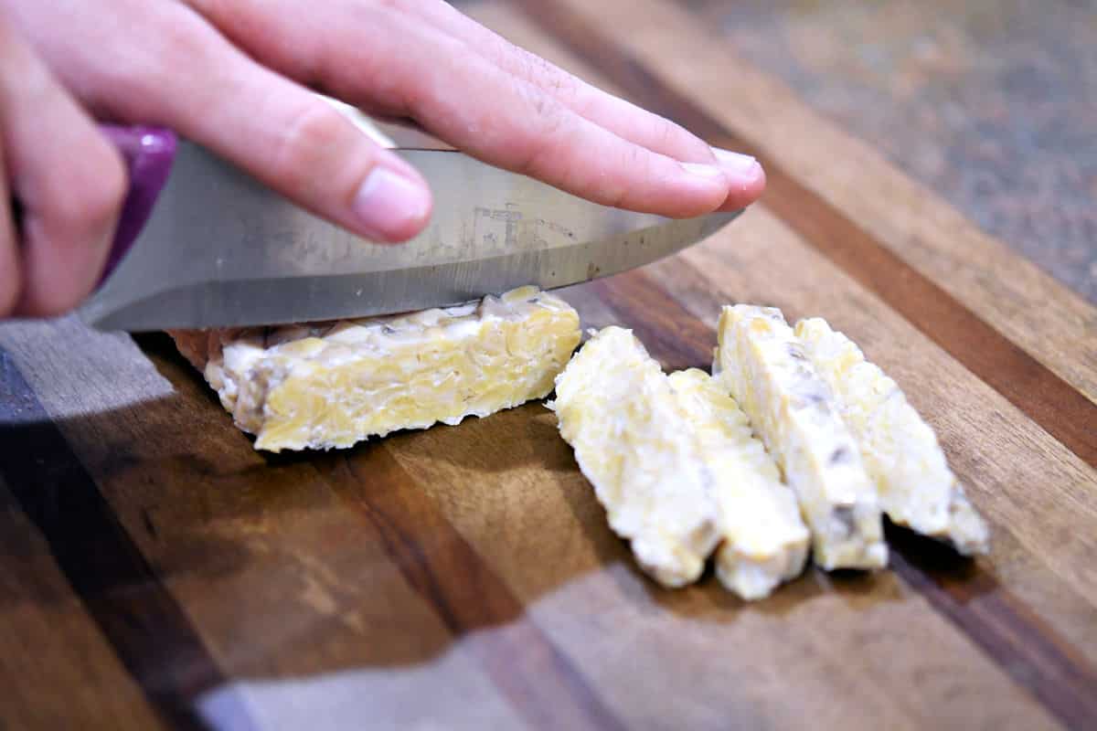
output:
M632 101L680 123L712 145L762 157L649 71L610 34L585 24L563 3L521 0L517 4L577 57L623 89ZM788 171L766 162L766 173L767 207L1064 446L1097 467L1097 404Z

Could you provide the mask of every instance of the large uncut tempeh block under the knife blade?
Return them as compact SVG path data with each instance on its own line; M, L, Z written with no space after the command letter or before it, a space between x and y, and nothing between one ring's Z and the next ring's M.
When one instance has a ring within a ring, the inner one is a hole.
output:
M576 311L535 287L398 317L171 334L270 452L349 447L543 398L580 339Z

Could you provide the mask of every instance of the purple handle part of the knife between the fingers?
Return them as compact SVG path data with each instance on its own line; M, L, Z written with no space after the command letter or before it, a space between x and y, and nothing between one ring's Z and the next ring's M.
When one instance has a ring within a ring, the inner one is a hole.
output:
M103 284L140 233L156 198L168 181L176 159L176 134L162 127L122 127L101 124L99 128L114 142L126 162L129 190L122 204L114 243L99 279Z

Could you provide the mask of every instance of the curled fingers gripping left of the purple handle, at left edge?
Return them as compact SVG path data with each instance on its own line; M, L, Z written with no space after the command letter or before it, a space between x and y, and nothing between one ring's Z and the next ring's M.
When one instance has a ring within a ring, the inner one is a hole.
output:
M60 315L98 281L125 194L125 172L114 148L2 19L0 148L22 209L23 238L19 247L4 192L0 311Z

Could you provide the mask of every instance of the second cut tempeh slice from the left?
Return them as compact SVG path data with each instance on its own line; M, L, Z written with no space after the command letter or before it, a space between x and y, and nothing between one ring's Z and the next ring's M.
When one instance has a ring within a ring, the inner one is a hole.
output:
M724 541L716 576L745 599L768 596L804 568L811 534L796 496L781 482L747 416L712 376L690 368L670 374L670 386L690 418L713 475Z

